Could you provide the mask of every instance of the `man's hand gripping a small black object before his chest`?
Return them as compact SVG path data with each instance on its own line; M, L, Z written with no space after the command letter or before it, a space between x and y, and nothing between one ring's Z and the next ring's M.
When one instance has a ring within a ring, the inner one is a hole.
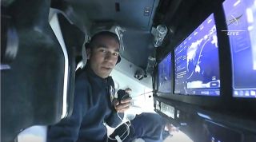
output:
M131 97L123 99L121 102L119 102L117 99L113 100L114 108L117 112L125 112L127 109L130 108L130 101Z

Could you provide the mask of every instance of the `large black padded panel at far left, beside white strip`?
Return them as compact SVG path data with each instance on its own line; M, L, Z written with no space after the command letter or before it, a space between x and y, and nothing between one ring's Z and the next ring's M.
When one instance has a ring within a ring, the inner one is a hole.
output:
M64 81L64 55L48 22L50 0L19 0L8 9L19 43L10 69L1 73L2 142L61 120Z

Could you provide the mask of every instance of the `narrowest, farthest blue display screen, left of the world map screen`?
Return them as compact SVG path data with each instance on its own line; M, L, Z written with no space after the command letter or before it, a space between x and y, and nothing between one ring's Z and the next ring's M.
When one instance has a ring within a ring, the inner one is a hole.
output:
M158 64L158 92L171 92L171 53Z

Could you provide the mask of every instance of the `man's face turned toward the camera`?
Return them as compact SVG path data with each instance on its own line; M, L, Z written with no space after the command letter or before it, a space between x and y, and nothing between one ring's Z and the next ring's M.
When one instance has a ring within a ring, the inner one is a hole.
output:
M106 78L118 61L119 44L113 37L98 37L90 49L87 49L90 68L99 77Z

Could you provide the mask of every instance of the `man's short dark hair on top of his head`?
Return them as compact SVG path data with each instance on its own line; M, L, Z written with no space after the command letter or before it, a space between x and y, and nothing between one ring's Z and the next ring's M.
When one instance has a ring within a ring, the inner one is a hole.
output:
M117 34L114 34L110 31L102 31L98 32L97 34L94 34L93 37L91 37L90 42L86 45L86 49L93 48L95 41L97 41L99 37L112 37L115 41L118 42L118 45L120 46L120 41Z

